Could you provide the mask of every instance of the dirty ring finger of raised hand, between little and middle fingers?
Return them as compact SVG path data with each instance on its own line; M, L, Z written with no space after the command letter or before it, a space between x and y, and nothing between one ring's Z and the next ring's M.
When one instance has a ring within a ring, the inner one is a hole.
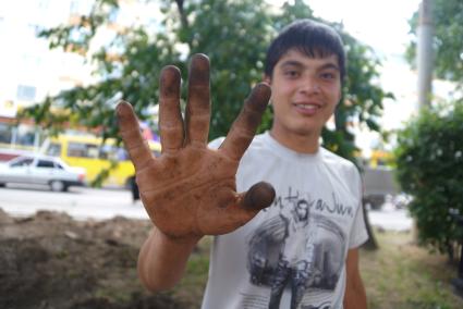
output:
M162 69L159 87L159 133L162 152L175 152L183 146L180 83L181 75L178 67L168 65Z

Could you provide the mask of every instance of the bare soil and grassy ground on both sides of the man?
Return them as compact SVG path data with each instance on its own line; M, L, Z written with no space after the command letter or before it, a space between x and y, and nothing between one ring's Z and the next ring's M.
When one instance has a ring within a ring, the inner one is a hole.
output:
M136 274L150 224L125 218L75 221L45 211L11 218L0 209L0 308L199 308L210 238L195 249L182 282L154 295ZM413 233L376 230L376 236L378 250L361 250L368 308L463 308L450 284L455 263L418 247Z

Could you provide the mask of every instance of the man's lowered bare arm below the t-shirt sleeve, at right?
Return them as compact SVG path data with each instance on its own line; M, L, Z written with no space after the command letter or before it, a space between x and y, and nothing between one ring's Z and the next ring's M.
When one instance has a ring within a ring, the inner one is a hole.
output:
M367 308L365 287L358 270L358 248L348 251L345 275L344 309Z

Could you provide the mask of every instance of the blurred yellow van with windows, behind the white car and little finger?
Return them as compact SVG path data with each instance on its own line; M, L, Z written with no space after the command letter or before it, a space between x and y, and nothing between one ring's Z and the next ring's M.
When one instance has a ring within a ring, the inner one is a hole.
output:
M130 187L135 176L135 169L125 149L115 146L114 139L106 139L93 135L59 135L47 138L41 152L59 157L71 166L82 166L86 170L87 183L94 183L101 175L107 177L103 186ZM161 145L148 141L155 156L159 156ZM112 169L111 169L112 168Z

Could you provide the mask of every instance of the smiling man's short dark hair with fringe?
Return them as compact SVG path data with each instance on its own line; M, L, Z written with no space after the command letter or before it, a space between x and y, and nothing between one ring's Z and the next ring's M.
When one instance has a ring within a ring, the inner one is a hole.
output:
M332 27L312 20L296 21L284 27L267 50L266 76L271 78L275 65L291 49L295 49L310 58L338 55L341 82L344 79L344 47L341 37Z

